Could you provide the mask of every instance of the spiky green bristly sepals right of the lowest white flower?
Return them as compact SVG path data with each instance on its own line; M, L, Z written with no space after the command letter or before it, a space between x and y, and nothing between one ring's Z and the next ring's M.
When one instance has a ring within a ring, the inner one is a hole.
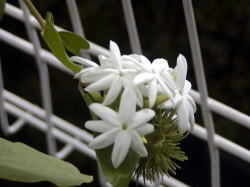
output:
M153 133L146 136L148 157L141 158L135 170L135 177L143 177L151 182L163 175L175 175L178 163L188 159L180 147L187 133L178 129L175 110L156 109L152 120Z

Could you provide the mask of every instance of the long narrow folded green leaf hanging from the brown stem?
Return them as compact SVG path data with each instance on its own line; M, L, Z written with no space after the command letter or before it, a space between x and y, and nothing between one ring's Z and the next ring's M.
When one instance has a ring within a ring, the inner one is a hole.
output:
M56 31L53 23L52 14L47 15L46 24L42 32L43 39L47 43L53 54L69 69L73 72L79 72L80 66L72 63L65 51L63 41L60 34Z

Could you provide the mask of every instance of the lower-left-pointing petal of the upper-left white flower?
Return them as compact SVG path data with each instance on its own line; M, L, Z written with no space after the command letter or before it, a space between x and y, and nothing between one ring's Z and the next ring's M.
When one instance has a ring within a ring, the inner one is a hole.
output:
M101 90L106 90L110 87L111 82L114 78L114 75L107 75L106 77L102 78L101 80L98 80L92 84L90 84L88 87L85 88L87 92L96 92Z

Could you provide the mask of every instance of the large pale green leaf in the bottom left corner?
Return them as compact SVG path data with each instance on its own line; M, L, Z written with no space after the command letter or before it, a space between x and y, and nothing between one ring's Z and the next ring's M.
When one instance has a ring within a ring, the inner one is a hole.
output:
M0 178L18 182L49 181L58 186L89 183L72 164L36 151L22 143L0 138Z

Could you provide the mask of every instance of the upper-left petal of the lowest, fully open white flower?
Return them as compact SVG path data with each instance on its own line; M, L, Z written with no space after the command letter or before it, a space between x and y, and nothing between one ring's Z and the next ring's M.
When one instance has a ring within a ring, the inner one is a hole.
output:
M118 120L117 113L112 109L104 105L101 105L99 103L93 103L89 106L89 108L92 112L94 112L98 117L100 117L105 122L117 126L121 125L120 121Z

